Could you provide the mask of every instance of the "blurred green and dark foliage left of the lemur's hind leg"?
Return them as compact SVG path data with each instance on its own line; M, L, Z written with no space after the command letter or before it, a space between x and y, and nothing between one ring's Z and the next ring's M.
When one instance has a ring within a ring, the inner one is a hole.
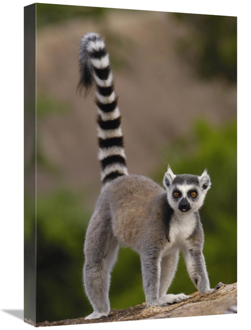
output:
M84 200L85 192L69 189L37 198L37 322L91 311L82 285L84 235L91 215Z

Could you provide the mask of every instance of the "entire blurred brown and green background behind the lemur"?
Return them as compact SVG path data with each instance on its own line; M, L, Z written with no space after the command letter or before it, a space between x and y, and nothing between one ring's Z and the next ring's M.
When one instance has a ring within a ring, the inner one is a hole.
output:
M201 218L211 286L237 280L237 19L37 4L37 322L91 312L82 266L101 186L96 106L76 93L88 31L105 38L110 54L130 173L161 183L168 163L176 174L206 167L212 187ZM32 162L33 151L28 182ZM29 250L32 210L25 221ZM169 292L194 291L181 257ZM139 257L120 249L111 308L143 301Z

